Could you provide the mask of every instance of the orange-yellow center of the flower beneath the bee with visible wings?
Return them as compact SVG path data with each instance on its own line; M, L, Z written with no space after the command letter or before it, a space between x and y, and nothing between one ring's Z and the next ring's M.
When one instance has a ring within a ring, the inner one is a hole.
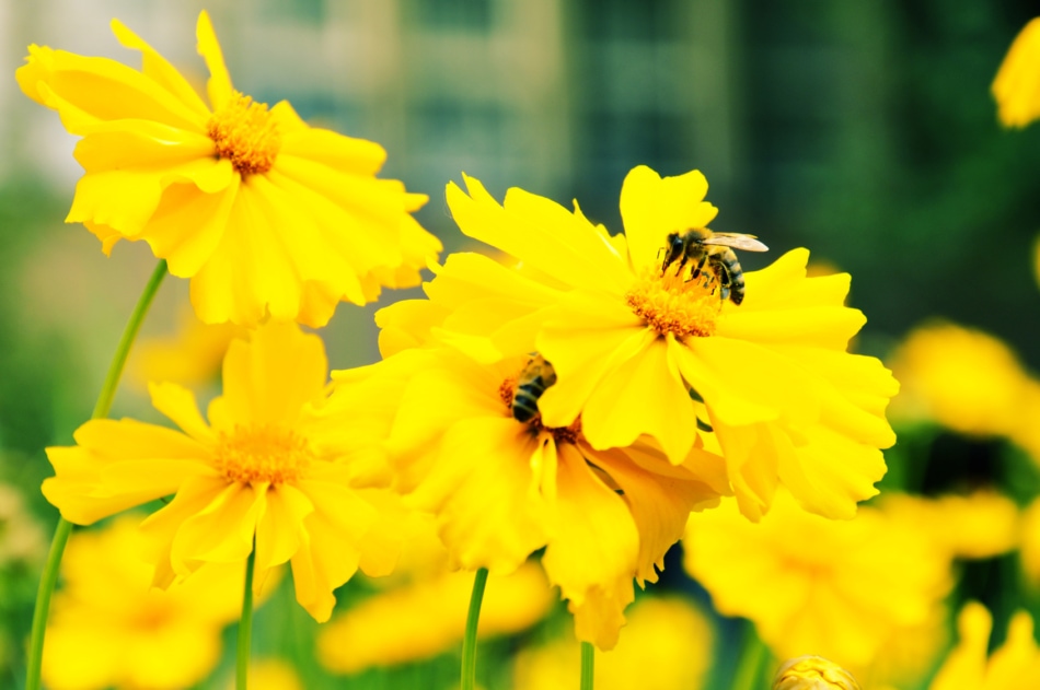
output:
M675 270L669 266L663 271L650 266L625 294L625 303L662 336L710 336L715 332L723 300L716 293L715 278L709 272L692 278L692 271L689 264Z

